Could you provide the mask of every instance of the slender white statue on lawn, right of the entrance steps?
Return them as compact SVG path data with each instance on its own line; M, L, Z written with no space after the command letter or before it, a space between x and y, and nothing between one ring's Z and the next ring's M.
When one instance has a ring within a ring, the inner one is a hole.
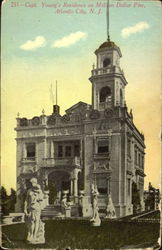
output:
M100 226L101 225L101 219L99 217L99 208L98 208L98 201L97 201L97 196L98 196L98 190L97 187L92 184L92 209L93 209L93 216L90 222L92 222L93 226Z

